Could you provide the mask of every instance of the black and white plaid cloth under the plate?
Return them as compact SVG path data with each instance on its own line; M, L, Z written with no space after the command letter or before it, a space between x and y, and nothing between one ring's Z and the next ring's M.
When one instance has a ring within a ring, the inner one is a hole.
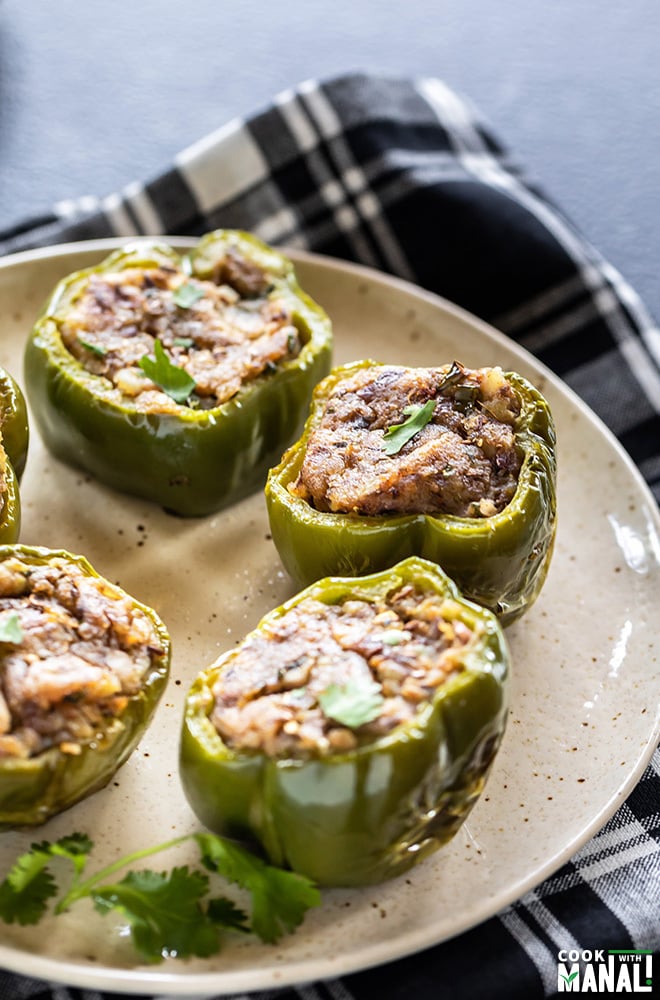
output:
M410 279L515 338L594 409L660 499L660 334L634 290L440 80L309 82L184 150L155 180L59 204L0 252L135 234L249 229ZM654 950L660 753L552 878L454 940L288 1000L530 998L560 948ZM484 970L487 970L487 978ZM0 998L100 1000L0 972Z

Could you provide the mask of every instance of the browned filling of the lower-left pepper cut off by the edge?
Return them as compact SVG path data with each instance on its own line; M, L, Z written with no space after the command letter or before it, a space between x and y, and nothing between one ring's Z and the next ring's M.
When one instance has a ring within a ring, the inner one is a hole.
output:
M61 559L0 564L0 628L0 759L79 754L163 653L126 595Z

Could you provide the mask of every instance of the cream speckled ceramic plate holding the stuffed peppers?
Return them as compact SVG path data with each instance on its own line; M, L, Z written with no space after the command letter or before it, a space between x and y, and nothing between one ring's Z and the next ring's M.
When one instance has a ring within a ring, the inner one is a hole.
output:
M19 381L23 342L52 285L114 245L58 247L0 263L0 364ZM615 811L656 744L660 520L629 459L571 392L484 324L375 272L292 256L302 285L334 321L336 363L370 356L501 364L535 382L552 405L557 546L541 597L508 633L512 708L485 794L454 841L408 877L326 892L322 907L278 946L228 937L213 959L140 966L121 926L84 902L37 929L1 925L2 967L98 989L192 996L329 978L418 951L486 919L555 871ZM22 496L23 542L85 554L153 605L173 637L170 685L138 750L107 789L38 831L38 839L89 833L100 866L196 828L177 776L184 692L293 590L259 494L214 517L175 519L53 461L33 432ZM0 875L34 839L0 834ZM194 860L183 848L162 863Z

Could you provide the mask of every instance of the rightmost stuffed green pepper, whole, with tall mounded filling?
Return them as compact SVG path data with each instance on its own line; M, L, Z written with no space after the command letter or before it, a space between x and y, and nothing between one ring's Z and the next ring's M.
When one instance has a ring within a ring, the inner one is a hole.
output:
M552 554L550 409L499 368L336 368L266 499L299 585L420 555L506 624L537 597Z

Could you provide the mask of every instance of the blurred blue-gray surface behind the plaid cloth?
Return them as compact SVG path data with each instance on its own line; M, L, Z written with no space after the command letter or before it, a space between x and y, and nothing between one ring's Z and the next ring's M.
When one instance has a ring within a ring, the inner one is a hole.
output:
M0 229L309 77L431 75L660 316L657 0L0 0Z

